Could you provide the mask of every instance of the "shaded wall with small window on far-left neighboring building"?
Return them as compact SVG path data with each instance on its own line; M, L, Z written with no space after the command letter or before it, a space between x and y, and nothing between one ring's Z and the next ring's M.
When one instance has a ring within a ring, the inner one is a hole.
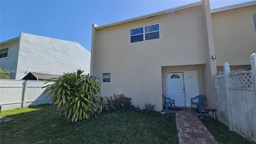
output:
M2 48L9 48L8 56L0 59L0 67L5 67L4 70L15 71L17 69L19 40L14 40L5 44L1 44ZM16 73L12 73L11 79L15 79Z

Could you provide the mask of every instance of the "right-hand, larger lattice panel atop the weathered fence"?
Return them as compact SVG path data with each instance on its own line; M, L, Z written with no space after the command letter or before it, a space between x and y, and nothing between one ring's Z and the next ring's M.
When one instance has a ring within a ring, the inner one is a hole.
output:
M236 74L229 77L232 88L254 88L252 73Z

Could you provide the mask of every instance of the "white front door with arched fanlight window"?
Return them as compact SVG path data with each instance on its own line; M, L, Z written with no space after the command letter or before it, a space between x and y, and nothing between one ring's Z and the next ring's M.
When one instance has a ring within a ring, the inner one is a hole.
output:
M185 106L183 72L167 73L167 97L175 100L175 106Z

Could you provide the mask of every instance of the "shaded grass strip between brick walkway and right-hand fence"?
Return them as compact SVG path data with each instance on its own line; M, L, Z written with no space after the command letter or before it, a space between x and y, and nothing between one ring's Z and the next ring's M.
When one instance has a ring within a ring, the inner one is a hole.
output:
M219 144L252 144L246 138L240 136L236 132L232 132L229 130L228 126L219 122L219 126L216 121L210 120L201 120L204 126L209 130L214 139Z

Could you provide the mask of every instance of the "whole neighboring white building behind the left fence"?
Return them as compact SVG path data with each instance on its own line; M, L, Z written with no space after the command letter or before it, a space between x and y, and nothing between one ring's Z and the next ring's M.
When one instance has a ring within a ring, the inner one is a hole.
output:
M0 66L20 80L28 72L62 75L77 69L90 73L90 52L78 42L20 33L0 43Z

